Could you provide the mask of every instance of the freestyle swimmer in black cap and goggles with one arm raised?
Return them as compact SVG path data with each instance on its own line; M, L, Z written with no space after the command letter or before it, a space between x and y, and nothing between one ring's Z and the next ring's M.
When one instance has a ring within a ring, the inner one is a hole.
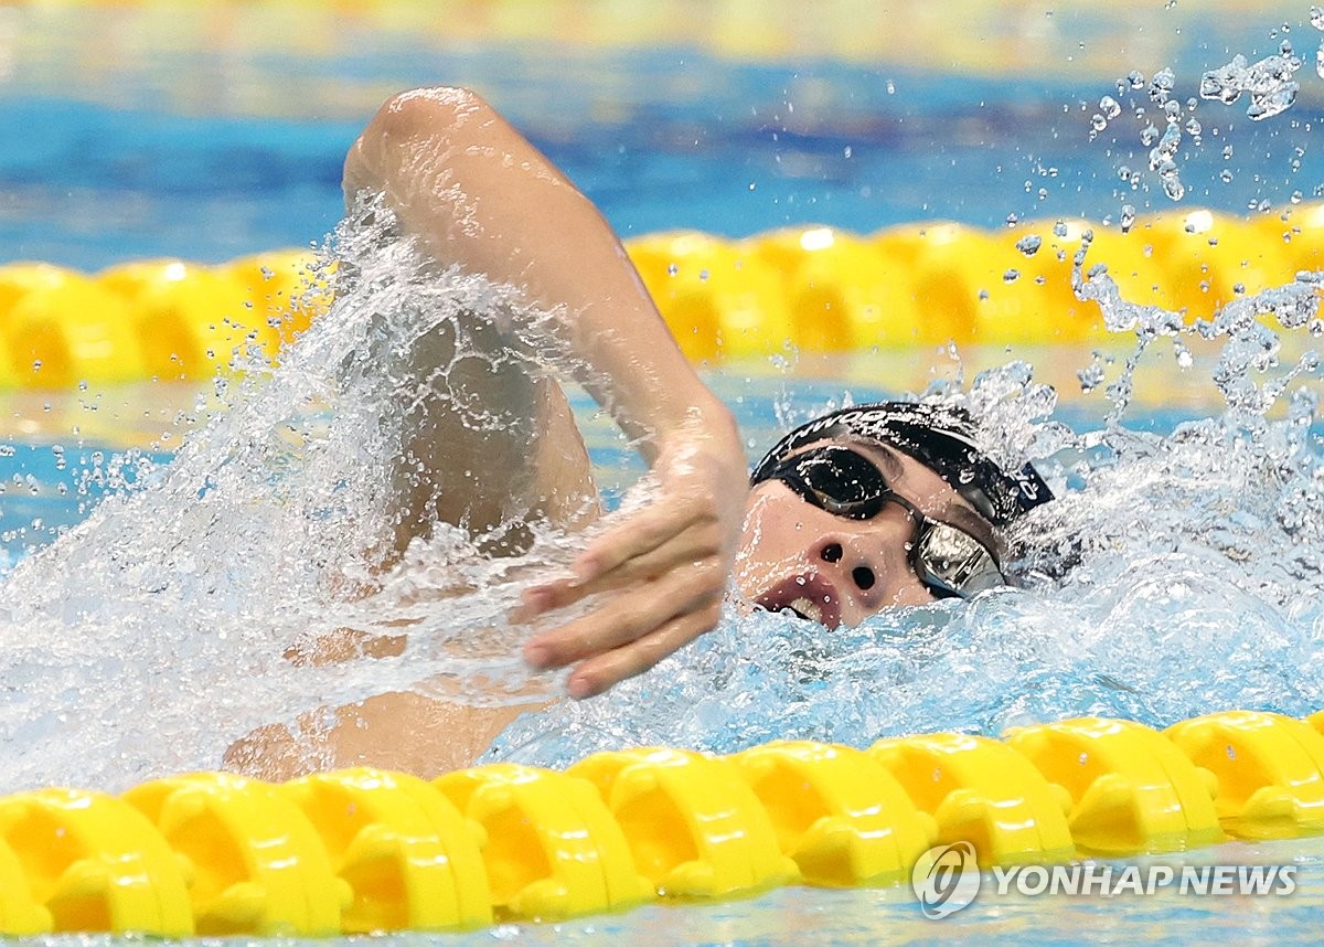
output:
M524 646L534 668L571 668L573 698L601 694L712 629L728 577L744 603L828 628L1005 584L1001 527L1050 498L1029 465L1009 474L982 454L961 411L900 403L812 421L751 477L731 412L681 354L610 226L473 91L389 99L350 148L344 189L351 205L380 195L438 266L515 286L552 314L543 331L657 478L651 502L588 543L571 576L523 593L524 620L598 596ZM475 321L466 330L489 358L453 363L455 340L442 328L416 348L410 370L436 379L450 366L451 392L510 420L475 430L440 396L409 409L393 494L399 548L437 523L475 536L512 521L581 528L598 499L564 393L498 358L518 327ZM383 694L298 738L258 731L226 763L282 779L306 766L298 747L311 742L328 766L436 775L471 763L522 710Z

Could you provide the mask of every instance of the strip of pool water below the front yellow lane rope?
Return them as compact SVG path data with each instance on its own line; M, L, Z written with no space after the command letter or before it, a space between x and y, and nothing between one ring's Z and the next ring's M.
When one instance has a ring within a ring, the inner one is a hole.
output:
M1304 849L1304 850L1303 850ZM1165 865L1262 864L1298 866L1299 889L1286 898L1025 897L998 895L985 875L978 898L941 921L928 921L908 889L786 887L748 901L718 905L657 905L621 917L545 926L508 924L490 932L438 936L436 943L493 940L560 944L613 943L1023 943L1078 944L1204 942L1309 943L1324 882L1324 852L1313 842L1227 845L1198 854L1139 860Z

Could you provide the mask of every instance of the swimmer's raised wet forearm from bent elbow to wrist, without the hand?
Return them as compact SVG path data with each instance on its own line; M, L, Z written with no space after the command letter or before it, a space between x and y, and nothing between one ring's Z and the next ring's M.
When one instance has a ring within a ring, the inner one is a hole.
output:
M385 193L436 260L564 311L548 328L650 462L659 438L696 416L731 426L602 215L475 93L388 101L350 150L344 187Z

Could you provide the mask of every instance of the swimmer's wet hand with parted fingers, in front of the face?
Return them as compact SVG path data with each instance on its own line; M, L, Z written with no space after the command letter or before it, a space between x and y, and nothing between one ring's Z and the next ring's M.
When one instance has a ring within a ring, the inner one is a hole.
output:
M730 412L695 412L661 441L653 469L658 497L580 554L573 579L524 592L526 619L609 593L584 617L524 646L535 668L575 665L571 697L601 694L647 670L711 630L722 613L749 489Z

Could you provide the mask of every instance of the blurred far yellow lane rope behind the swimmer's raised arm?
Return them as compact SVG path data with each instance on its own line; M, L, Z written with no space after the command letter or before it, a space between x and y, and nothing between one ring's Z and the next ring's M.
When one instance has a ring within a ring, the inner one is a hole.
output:
M1071 265L1104 264L1136 303L1207 318L1241 295L1324 269L1324 204L1242 220L1157 215L1127 233L1080 220L984 230L906 224L873 234L785 228L728 240L654 233L626 250L681 348L695 362L789 351L1103 343ZM48 264L0 266L0 387L68 388L197 380L249 352L275 359L332 297L305 250L203 266L134 261L87 275Z

